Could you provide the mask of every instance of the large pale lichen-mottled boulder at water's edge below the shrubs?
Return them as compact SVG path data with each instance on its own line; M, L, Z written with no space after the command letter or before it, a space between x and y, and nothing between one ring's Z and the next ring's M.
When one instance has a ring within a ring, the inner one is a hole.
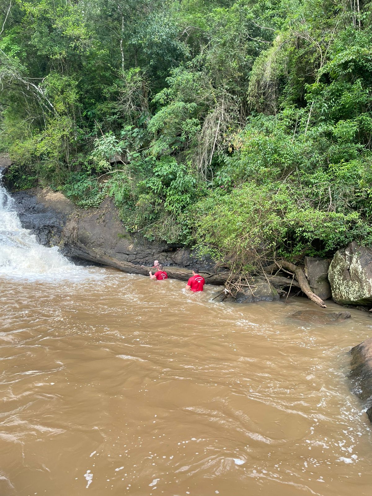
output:
M355 241L336 252L328 269L332 298L340 305L372 305L372 250Z

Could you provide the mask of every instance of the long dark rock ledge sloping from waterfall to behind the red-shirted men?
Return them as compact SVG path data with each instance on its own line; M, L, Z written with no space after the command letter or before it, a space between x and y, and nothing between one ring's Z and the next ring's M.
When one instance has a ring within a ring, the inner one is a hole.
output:
M59 246L67 256L143 275L148 275L158 259L169 277L181 280L191 276L192 265L197 263L186 247L128 233L110 198L91 210L76 207L62 193L48 188L18 191L13 198L22 226L30 229L39 243ZM198 265L207 283L226 281L227 273L216 271L207 260Z

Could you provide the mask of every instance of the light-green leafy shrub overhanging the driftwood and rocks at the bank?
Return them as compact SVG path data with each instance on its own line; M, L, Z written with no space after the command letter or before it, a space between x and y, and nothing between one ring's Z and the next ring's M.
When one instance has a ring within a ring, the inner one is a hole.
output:
M327 256L354 239L372 242L372 227L358 212L319 210L283 183L215 191L192 211L197 248L239 270L304 250Z

